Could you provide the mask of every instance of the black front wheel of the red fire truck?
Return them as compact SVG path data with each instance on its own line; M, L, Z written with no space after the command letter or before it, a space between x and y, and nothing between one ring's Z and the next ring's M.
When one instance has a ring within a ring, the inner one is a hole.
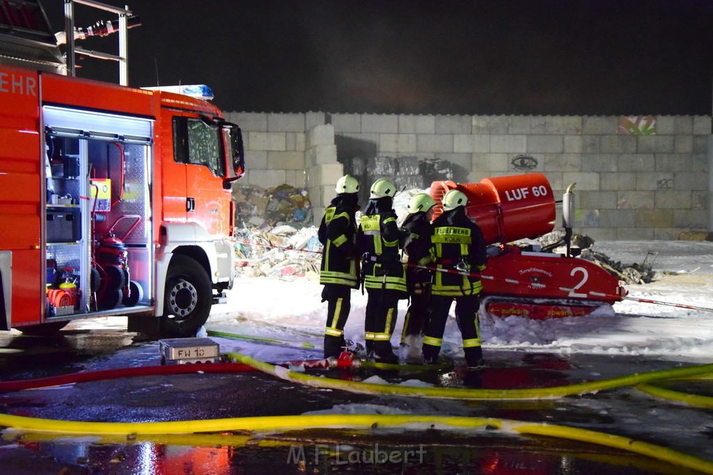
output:
M171 259L166 275L161 338L193 337L210 315L212 288L205 269L187 256Z

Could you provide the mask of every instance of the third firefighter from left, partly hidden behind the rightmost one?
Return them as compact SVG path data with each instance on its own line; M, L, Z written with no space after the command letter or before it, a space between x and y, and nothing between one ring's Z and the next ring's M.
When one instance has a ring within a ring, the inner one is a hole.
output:
M436 202L426 193L415 194L409 202L409 215L401 224L405 236L404 251L409 256L406 266L406 288L411 304L406 310L401 345L406 346L409 357L421 354L419 338L426 329L430 313L431 273L416 266L431 263L431 236L434 228L431 218ZM414 351L417 352L414 354Z

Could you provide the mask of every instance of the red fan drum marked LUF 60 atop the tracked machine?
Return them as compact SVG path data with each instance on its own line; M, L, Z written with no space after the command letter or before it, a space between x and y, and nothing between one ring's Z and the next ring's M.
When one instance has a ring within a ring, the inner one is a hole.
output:
M441 199L451 189L468 197L466 214L480 226L487 244L535 238L555 227L555 197L541 173L486 178L480 183L433 182L434 218L443 212Z

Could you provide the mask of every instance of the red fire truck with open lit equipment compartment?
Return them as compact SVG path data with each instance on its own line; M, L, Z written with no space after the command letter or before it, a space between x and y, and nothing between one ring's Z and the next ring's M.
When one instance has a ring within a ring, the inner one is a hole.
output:
M240 128L189 95L76 78L58 51L39 3L2 2L0 330L128 315L193 336L233 284Z

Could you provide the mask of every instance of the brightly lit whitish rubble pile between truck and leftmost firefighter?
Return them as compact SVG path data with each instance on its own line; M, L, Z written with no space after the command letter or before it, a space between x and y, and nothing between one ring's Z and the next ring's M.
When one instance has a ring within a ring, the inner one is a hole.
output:
M243 228L235 239L238 277L319 278L322 244L314 226Z

